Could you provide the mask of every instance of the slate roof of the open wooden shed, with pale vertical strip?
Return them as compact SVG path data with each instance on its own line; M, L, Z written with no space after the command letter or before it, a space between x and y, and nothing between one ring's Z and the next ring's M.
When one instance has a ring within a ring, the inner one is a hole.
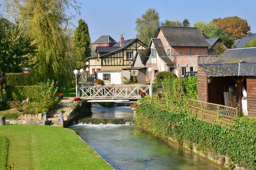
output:
M256 76L256 62L198 64L209 77Z

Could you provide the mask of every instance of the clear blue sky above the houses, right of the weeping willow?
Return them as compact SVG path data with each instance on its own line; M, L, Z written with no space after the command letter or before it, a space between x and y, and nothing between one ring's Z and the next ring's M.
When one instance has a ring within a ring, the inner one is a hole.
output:
M81 18L87 22L91 41L101 35L110 35L117 42L120 33L125 40L135 38L135 21L148 9L156 8L160 21L187 18L191 25L197 21L209 22L213 18L238 16L246 19L251 32L256 33L255 1L247 0L78 0L81 15L76 15L73 23Z

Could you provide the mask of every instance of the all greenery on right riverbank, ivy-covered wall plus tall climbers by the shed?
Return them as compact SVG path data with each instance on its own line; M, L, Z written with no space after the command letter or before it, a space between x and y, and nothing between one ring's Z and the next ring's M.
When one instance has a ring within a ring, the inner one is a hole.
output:
M190 116L188 99L197 99L197 78L168 79L163 91L141 99L136 125L233 169L256 169L256 121L237 118L230 128Z

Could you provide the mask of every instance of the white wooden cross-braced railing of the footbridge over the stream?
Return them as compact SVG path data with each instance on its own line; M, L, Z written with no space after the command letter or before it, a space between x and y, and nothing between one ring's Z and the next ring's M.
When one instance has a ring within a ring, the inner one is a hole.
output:
M151 85L81 86L78 96L84 99L140 99L140 92L150 95Z

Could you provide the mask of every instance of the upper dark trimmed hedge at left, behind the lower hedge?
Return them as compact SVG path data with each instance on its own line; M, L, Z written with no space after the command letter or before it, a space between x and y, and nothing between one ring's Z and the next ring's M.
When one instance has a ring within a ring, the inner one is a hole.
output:
M34 85L29 73L7 73L6 85Z

